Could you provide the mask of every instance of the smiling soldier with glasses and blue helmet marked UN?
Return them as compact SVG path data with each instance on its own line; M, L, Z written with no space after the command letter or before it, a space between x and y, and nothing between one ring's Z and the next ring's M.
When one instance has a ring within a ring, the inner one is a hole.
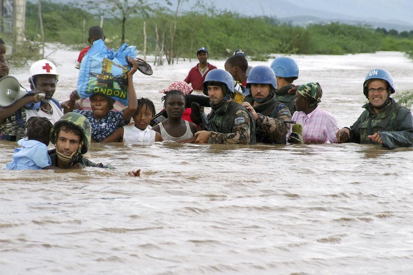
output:
M388 149L413 146L413 116L390 98L395 93L393 78L383 69L367 73L363 83L368 103L351 126L337 131L339 143L381 144Z

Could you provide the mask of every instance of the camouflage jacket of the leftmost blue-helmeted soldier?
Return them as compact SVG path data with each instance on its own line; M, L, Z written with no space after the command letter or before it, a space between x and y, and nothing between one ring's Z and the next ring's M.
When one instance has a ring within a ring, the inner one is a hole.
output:
M255 144L255 120L246 109L235 101L226 102L219 108L211 107L208 120L218 132L212 132L208 143Z

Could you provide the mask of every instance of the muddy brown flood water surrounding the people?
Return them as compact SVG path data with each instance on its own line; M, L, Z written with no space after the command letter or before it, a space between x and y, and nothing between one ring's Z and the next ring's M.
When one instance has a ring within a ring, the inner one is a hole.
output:
M77 54L49 57L60 101ZM339 127L361 114L369 69L388 70L396 93L413 87L402 53L292 57L295 83L319 82ZM159 110L158 90L195 64L138 72L138 97ZM28 67L13 71L28 88ZM86 157L116 170L5 170L16 146L0 142L0 274L413 273L410 148L92 144ZM125 175L137 168L141 177Z

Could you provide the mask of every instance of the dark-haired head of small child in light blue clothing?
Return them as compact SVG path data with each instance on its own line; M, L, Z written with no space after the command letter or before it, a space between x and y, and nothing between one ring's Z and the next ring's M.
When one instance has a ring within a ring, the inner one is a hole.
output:
M29 140L39 141L48 146L52 127L52 122L46 117L30 117L26 123L26 136Z

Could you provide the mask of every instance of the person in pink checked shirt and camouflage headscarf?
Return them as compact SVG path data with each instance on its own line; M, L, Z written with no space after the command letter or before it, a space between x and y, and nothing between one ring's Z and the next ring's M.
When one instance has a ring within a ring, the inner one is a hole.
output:
M303 125L303 141L306 144L338 143L337 121L331 113L318 107L321 97L322 89L318 82L303 84L296 91L294 102L297 111L292 120ZM287 136L291 132L290 129Z

